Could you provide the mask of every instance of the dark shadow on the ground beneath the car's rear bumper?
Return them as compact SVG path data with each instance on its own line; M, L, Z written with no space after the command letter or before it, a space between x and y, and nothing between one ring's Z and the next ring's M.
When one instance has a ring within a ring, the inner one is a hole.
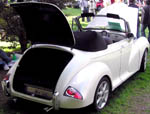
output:
M82 108L82 109L60 109L60 110L51 110L46 112L44 108L47 107L45 105L41 105L38 103L26 101L26 100L18 100L16 103L9 99L5 104L3 104L2 114L91 114L91 108ZM1 113L0 113L1 114Z

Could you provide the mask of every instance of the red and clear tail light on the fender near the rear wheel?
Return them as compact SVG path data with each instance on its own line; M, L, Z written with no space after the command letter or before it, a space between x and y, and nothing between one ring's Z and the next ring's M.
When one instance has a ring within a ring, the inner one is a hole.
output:
M68 96L68 97L72 97L72 98L75 98L75 99L79 99L79 100L82 100L83 97L82 95L79 93L79 91L77 91L75 88L73 87L68 87L64 93L65 96Z

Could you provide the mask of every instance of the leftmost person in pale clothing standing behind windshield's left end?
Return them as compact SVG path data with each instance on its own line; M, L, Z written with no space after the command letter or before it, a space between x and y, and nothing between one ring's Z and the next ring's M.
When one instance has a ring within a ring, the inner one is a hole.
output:
M89 13L88 1L87 0L81 0L80 1L80 8L81 8L82 14ZM82 21L84 22L84 17L82 17ZM88 22L90 21L89 17L87 17L87 21Z

